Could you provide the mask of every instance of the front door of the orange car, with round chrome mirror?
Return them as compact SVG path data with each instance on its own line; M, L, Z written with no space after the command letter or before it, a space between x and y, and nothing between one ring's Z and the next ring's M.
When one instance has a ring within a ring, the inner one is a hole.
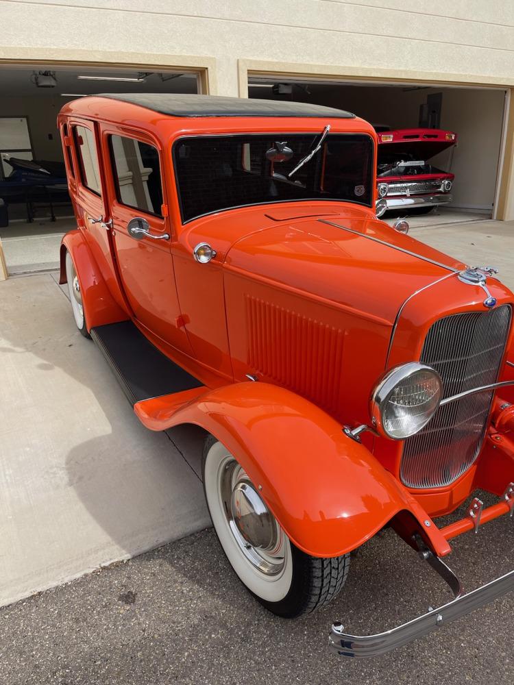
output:
M171 223L156 142L142 132L105 127L106 186L113 249L134 318L165 343L191 353L175 287Z

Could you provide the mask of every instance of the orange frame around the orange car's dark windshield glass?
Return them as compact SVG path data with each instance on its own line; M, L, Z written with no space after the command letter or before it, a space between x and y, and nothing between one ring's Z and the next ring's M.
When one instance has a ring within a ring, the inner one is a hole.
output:
M252 138L252 137L262 137L262 136L269 136L271 138L282 138L283 136L312 136L314 138L314 142L319 138L319 131L305 131L305 130L295 130L295 131L286 131L284 129L278 129L278 130L264 130L264 131L252 131L252 132L247 132L247 131L240 131L240 132L207 132L207 131L197 131L197 132L191 132L191 133L183 133L177 136L176 138L173 138L173 141L171 142L171 166L173 169L173 184L175 186L175 194L176 198L178 201L178 209L180 213L180 221L182 223L182 226L187 225L188 223L191 223L192 221L197 221L198 219L202 219L205 216L211 216L212 214L220 214L221 212L231 212L232 210L237 210L237 209L245 209L248 207L259 207L259 206L268 206L268 205L282 205L284 203L297 203L297 202L330 202L330 203L343 203L343 204L355 204L360 207L366 207L366 208L371 208L373 209L375 207L375 186L376 186L376 160L377 160L377 145L376 141L374 139L374 136L370 134L367 131L334 131L333 129L330 130L328 133L328 138L329 136L341 136L341 137L354 137L354 136L366 136L369 138L369 142L371 145L371 169L369 173L369 182L370 182L370 201L368 202L358 202L356 200L346 200L346 199L340 199L337 197L326 197L326 198L321 198L321 197L302 197L298 199L284 199L284 200L269 200L269 201L262 201L262 202L247 202L244 204L239 204L239 205L234 205L231 207L224 207L221 209L217 210L212 210L212 212L205 212L204 214L198 214L197 216L193 216L191 219L185 219L184 220L184 211L182 208L182 197L180 194L180 186L178 182L178 168L177 168L177 158L176 158L176 150L178 148L178 145L180 145L181 142L184 140L187 140L188 138ZM326 140L325 138L325 140ZM323 142L325 142L323 140Z

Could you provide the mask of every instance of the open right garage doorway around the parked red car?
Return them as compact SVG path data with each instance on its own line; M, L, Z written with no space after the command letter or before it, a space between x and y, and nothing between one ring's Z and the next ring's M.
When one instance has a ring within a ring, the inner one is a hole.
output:
M424 208L428 213L422 216L422 210L408 212L402 208L387 212L382 219L389 223L409 213L411 225L418 226L493 218L500 177L505 90L259 75L249 77L248 92L250 98L287 99L348 110L381 132L419 127L454 132L456 145L434 156L428 153L432 167L454 174L451 201L444 206Z

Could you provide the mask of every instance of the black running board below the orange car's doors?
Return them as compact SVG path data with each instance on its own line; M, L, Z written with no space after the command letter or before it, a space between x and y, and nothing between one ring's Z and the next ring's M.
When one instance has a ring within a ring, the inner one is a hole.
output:
M132 321L97 326L90 334L132 406L202 385L152 345Z

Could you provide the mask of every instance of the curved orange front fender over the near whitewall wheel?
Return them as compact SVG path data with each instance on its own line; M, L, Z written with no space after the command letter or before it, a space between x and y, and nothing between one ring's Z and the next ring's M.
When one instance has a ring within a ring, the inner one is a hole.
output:
M450 547L426 512L341 425L308 400L266 383L208 390L185 405L173 395L134 406L153 429L194 423L225 445L243 466L299 549L318 557L356 549L399 512L439 556Z

